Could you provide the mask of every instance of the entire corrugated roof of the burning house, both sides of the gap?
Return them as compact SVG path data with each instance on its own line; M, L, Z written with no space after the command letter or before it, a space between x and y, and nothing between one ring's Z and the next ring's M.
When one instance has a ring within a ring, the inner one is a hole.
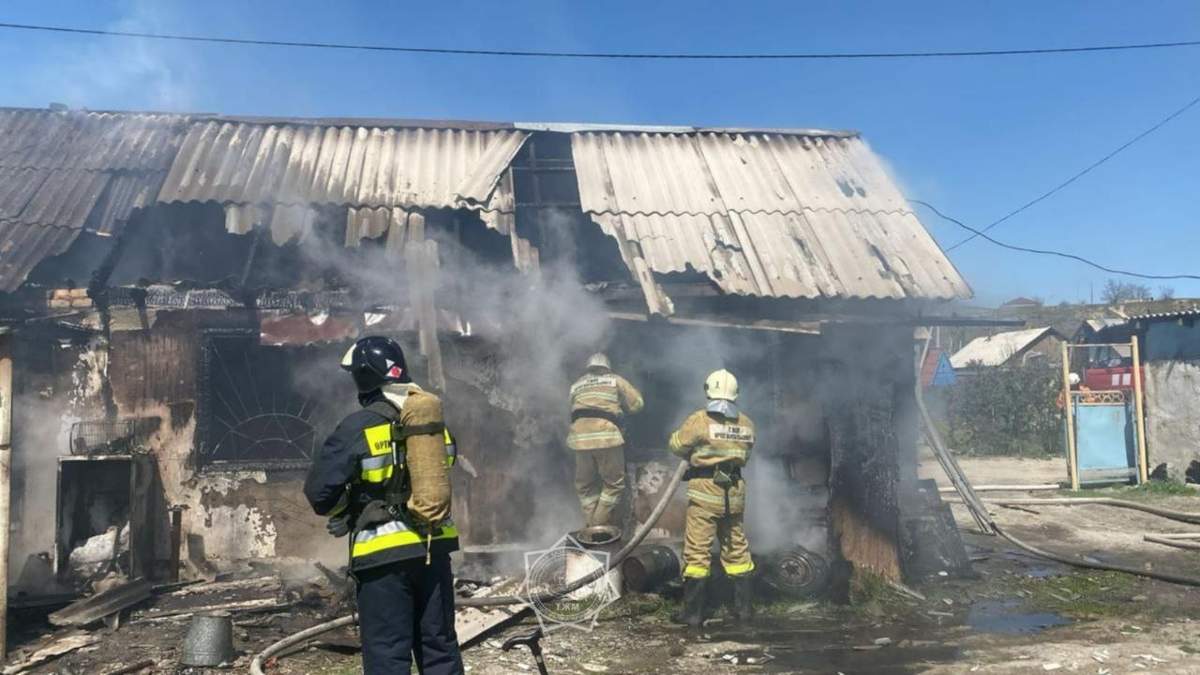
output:
M304 234L310 204L341 205L347 245L472 209L535 261L510 171L535 131L570 135L582 210L652 312L672 312L660 281L677 273L767 298L971 294L856 132L30 109L0 109L0 291L155 199L220 203L232 232L276 241Z

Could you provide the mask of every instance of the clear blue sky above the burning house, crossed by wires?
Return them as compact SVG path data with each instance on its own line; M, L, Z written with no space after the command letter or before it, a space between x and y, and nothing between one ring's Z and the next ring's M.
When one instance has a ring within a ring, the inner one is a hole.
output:
M1200 38L1200 2L25 1L0 20L236 37L638 52L989 49ZM910 197L982 226L1200 95L1200 48L887 61L558 61L0 31L0 104L856 129ZM1200 274L1200 107L997 227L1111 267ZM961 231L922 211L943 246ZM1109 276L977 240L980 303ZM1200 282L1147 282L1200 297Z

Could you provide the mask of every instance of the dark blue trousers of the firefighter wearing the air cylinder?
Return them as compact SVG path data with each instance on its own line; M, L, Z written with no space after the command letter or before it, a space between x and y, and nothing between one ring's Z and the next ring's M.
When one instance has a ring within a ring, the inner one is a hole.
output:
M365 675L462 675L450 556L355 572Z

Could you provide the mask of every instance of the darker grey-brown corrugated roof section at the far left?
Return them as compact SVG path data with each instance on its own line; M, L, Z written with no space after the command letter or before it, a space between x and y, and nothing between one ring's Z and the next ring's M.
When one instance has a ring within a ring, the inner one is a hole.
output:
M0 291L157 195L187 118L0 108Z

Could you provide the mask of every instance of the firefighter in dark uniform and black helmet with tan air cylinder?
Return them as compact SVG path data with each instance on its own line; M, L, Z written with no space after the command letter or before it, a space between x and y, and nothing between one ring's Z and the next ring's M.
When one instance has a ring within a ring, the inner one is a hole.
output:
M450 551L454 438L442 401L413 383L388 338L362 338L342 359L362 410L338 424L313 459L305 496L349 536L367 675L463 673L455 634Z

